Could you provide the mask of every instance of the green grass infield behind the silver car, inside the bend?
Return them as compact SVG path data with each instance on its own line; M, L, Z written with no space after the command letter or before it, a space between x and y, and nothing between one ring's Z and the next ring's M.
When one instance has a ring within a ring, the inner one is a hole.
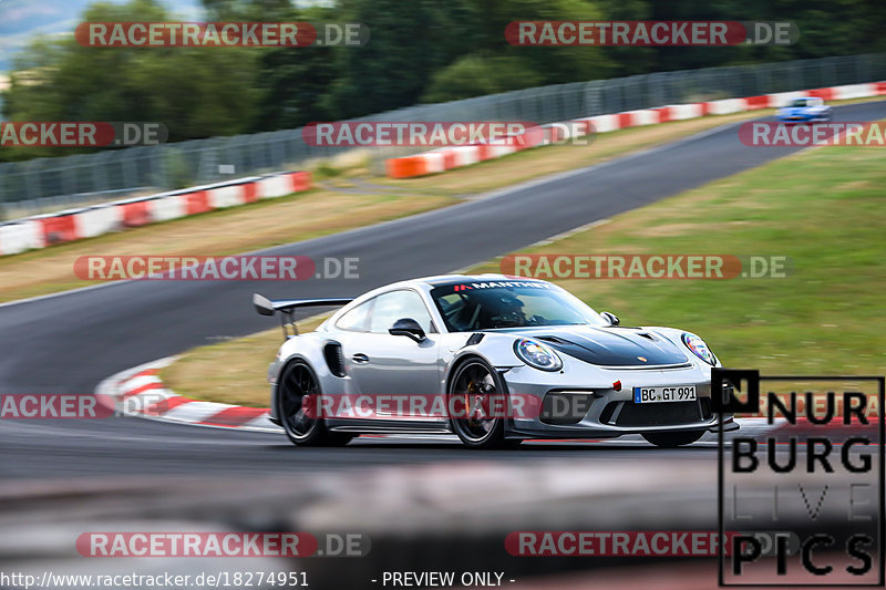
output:
M812 149L526 251L787 256L782 279L556 282L627 325L699 333L730 366L883 374L884 184L877 148ZM262 333L195 349L165 376L189 396L267 405L264 371L278 344Z

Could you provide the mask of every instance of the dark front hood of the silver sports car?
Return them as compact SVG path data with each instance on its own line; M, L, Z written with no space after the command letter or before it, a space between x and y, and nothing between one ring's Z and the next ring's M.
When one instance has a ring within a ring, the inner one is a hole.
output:
M548 327L524 334L569 356L602 366L660 366L689 361L679 345L640 328Z

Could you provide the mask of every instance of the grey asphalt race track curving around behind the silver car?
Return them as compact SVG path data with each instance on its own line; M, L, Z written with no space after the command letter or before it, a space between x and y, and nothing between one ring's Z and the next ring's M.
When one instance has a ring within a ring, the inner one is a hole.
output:
M886 102L835 108L836 121L884 117ZM594 149L593 145L576 147L580 148ZM446 209L271 250L315 259L359 257L359 280L135 281L2 306L0 392L92 392L102 379L117 371L213 339L272 327L276 320L254 312L254 291L270 297L356 296L393 280L452 271L795 151L744 146L739 142L738 125L728 125ZM450 443L369 438L343 449L296 449L270 434L135 418L0 422L0 480L7 484L32 478L286 474L565 455L590 460L712 458L710 445L672 452L640 444L536 445L525 452L496 454L465 452Z

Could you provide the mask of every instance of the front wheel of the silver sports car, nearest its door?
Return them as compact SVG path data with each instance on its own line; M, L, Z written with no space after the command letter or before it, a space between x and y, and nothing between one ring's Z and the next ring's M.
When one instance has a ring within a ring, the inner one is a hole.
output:
M450 420L452 431L462 444L468 448L515 448L519 444L505 439L505 421L502 415L483 416L484 404L487 408L501 408L504 407L503 403L493 406L490 401L503 402L507 396L501 375L483 359L471 358L453 371L446 395L447 407L457 408L454 403L462 396L464 403L460 406L460 413L463 411L465 417Z

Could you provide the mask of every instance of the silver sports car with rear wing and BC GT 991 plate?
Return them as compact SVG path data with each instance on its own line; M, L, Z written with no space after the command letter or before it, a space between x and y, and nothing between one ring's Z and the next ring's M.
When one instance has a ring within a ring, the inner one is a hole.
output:
M672 447L717 427L720 362L699 337L619 325L546 281L450 275L353 300L254 303L285 318L270 407L296 445L454 433L475 448L624 434ZM315 332L288 333L299 308L330 306L343 308Z

